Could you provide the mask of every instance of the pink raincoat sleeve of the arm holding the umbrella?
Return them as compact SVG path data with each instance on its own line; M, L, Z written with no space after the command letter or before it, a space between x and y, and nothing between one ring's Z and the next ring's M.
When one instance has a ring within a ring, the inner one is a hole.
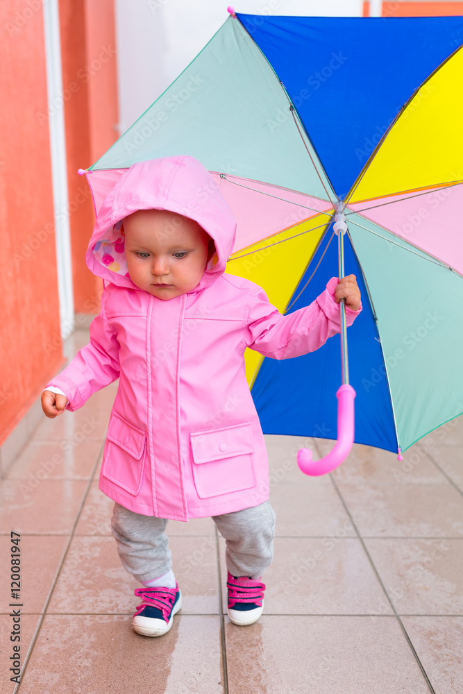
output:
M246 326L246 345L273 359L290 359L314 352L328 337L341 330L339 303L335 301L337 278L333 277L315 301L306 307L283 316L271 305L264 290L255 291L249 321ZM346 323L352 325L362 311L346 306Z

